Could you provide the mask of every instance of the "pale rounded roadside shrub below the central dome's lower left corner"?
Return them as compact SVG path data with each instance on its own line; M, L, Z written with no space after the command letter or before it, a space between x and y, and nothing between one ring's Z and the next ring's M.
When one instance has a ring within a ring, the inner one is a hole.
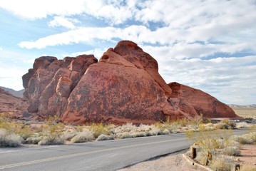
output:
M74 136L71 139L71 142L79 143L79 142L88 142L92 140L95 140L93 130L84 129L83 132L80 132L78 133L78 135Z

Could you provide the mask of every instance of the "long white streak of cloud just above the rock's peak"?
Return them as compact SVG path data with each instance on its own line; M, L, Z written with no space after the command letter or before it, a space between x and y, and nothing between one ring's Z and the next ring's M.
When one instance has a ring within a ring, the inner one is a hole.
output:
M23 41L19 43L19 46L21 46L21 48L46 48L46 46L86 43L93 41L93 39L113 41L113 38L136 41L138 40L138 35L145 30L148 30L145 26L130 26L128 28L78 28L76 30L39 38L37 41Z

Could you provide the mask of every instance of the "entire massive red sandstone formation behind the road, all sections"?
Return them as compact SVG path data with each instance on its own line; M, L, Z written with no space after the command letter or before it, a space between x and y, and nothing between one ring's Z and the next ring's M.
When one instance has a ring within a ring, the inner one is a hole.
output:
M23 81L29 113L41 118L58 115L64 123L149 124L166 116L236 117L231 108L200 90L192 97L192 88L166 84L157 61L131 41L120 41L98 62L92 55L37 58Z

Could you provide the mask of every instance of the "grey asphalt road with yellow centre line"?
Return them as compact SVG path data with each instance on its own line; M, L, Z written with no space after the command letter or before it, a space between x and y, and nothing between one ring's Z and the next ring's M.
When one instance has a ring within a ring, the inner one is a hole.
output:
M246 130L235 130L242 135ZM0 170L119 170L188 148L184 134L86 142L72 145L0 148Z

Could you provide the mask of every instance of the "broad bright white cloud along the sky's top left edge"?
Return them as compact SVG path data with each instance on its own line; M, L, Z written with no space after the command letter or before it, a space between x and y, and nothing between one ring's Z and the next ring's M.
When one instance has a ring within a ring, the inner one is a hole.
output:
M132 18L135 4L132 1L128 1L127 5L123 5L121 1L115 0L76 0L76 2L67 0L9 0L1 2L0 8L11 11L26 19L87 14L98 19L106 19L111 24L121 24L123 21Z

